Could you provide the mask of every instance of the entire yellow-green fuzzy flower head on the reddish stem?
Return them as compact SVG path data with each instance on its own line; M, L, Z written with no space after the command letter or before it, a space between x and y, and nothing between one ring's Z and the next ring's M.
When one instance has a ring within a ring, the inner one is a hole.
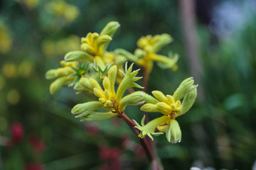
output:
M63 11L64 7L58 6L58 8L55 9L57 14ZM101 33L88 33L85 38L81 39L80 51L71 51L65 55L65 60L60 62L63 67L46 72L47 79L55 79L50 84L50 93L55 93L61 86L69 85L78 91L90 91L97 96L97 101L80 103L72 109L71 112L76 115L75 117L81 118L82 121L97 121L116 115L122 116L126 106L146 103L141 107L142 111L159 112L163 115L146 125L145 117L142 118L141 125L134 120L136 123L134 128L141 131L139 137L143 138L148 135L153 140L152 135L161 135L165 132L169 142L180 142L181 129L176 118L191 108L197 96L197 86L193 85L192 77L185 79L173 95L152 91L153 97L143 91L136 91L124 96L129 88L143 89L135 83L142 77L137 77L139 69L132 71L134 63L145 69L145 77L149 76L154 62L164 68L176 65L178 55L166 57L157 54L161 47L172 41L171 36L168 34L146 35L140 38L137 42L139 48L135 50L134 55L122 49L108 52L107 46L117 28L119 28L119 23L110 22ZM127 59L134 62L129 67ZM118 69L120 72L117 72ZM102 81L102 86L98 81ZM117 83L119 85L115 90Z

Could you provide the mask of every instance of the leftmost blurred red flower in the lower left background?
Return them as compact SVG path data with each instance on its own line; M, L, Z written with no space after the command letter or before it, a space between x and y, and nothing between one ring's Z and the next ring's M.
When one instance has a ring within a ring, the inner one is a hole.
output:
M23 125L21 123L13 123L11 125L11 142L21 142L24 135Z

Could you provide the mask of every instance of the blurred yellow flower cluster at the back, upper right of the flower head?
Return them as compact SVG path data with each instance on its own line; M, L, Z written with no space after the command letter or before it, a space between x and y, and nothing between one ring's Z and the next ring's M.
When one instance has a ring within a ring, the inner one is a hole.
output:
M178 55L173 55L171 52L169 53L169 57L157 54L162 47L170 42L172 42L171 35L166 33L154 36L146 35L145 37L139 38L137 42L139 48L135 50L134 55L123 49L117 49L115 52L117 52L118 55L127 57L128 60L131 60L139 66L144 67L146 74L149 74L153 67L153 62L157 62L157 64L163 68L176 66Z

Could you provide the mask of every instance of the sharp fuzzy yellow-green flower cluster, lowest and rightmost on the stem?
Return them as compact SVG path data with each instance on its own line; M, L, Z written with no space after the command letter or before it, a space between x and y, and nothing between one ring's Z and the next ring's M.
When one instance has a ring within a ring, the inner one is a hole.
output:
M185 79L172 96L165 96L161 91L152 91L156 100L146 102L141 110L146 112L160 112L164 115L151 120L146 125L144 125L144 118L142 119L142 125L139 125L134 120L134 123L137 124L135 128L141 131L139 137L148 135L153 140L152 135L161 135L165 132L169 142L181 142L181 129L176 118L186 113L196 100L197 86L193 85L193 83L192 77ZM181 98L183 98L182 103L180 101ZM159 132L156 132L156 130Z

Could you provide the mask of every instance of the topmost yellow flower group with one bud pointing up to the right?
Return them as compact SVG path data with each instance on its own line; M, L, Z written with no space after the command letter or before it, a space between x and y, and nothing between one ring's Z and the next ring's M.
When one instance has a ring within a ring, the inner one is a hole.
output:
M119 28L119 23L110 22L103 28L101 33L88 33L85 38L81 38L81 50L72 51L65 55L66 61L87 60L93 63L95 72L100 73L100 78L105 77L107 68L110 68L110 63L117 64L118 67L123 67L126 58L116 55L114 52L107 52L107 45L112 40L112 36ZM121 77L120 74L118 77Z

